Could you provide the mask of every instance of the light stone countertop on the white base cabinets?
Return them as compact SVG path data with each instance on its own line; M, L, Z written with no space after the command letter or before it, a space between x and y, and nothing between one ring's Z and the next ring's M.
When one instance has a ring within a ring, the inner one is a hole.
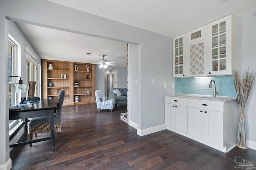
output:
M176 98L189 98L189 99L199 99L199 100L210 100L216 102L230 102L237 100L236 97L225 97L225 96L207 96L207 95L198 95L198 94L166 94L164 96L176 97Z

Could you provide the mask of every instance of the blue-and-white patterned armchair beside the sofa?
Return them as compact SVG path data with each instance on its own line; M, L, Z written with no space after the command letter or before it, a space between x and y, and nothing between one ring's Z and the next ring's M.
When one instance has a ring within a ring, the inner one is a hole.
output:
M110 111L113 111L115 106L114 99L107 99L105 96L102 96L101 90L95 91L95 98L98 111L103 109L110 109Z

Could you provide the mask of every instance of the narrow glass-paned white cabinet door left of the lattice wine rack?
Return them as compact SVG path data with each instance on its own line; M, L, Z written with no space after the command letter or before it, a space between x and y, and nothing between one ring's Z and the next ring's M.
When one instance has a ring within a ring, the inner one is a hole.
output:
M185 76L186 69L186 33L174 37L173 44L173 77Z

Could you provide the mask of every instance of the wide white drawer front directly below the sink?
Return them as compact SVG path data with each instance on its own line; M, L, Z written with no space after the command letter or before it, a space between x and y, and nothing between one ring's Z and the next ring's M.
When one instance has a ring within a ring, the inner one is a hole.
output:
M224 112L224 102L189 99L188 107Z

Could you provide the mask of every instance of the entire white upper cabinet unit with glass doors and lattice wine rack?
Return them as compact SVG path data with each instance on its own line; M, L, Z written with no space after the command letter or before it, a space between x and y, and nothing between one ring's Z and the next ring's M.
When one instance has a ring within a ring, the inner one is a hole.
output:
M174 37L173 77L232 74L238 64L237 22L230 15ZM182 65L176 44L180 37L187 39L183 41Z

